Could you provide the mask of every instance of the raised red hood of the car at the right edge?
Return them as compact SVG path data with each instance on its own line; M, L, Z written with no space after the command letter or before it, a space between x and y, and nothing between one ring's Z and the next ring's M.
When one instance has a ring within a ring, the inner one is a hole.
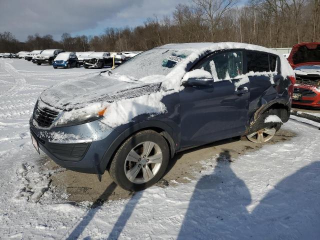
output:
M303 65L320 65L320 42L303 42L292 47L288 62L294 69Z

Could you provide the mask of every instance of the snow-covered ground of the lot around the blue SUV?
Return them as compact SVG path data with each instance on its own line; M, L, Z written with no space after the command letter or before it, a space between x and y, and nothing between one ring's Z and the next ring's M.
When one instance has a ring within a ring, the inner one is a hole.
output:
M290 141L235 159L225 150L189 183L93 205L53 194L28 119L43 89L92 71L0 58L0 239L320 238L320 131L299 117L283 125Z

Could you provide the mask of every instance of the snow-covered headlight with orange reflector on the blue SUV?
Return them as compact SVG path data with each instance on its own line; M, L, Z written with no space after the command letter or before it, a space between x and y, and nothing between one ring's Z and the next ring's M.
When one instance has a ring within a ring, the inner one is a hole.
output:
M65 111L55 122L55 126L72 126L87 123L103 117L106 108L97 111L87 111L86 109L74 109Z

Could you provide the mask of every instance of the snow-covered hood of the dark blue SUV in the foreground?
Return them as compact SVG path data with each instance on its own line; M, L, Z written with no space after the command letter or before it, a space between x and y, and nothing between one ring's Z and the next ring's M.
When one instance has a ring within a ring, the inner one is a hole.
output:
M51 107L71 110L94 102L112 102L158 91L161 83L143 83L121 75L88 74L83 79L54 85L44 90L40 99Z

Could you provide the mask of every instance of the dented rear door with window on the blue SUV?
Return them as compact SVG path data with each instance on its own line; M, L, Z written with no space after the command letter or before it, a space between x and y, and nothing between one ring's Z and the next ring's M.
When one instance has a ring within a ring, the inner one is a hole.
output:
M246 72L250 81L249 112L253 113L261 105L278 96L279 83L283 81L283 77L279 72L280 61L276 55L246 50L246 61Z

